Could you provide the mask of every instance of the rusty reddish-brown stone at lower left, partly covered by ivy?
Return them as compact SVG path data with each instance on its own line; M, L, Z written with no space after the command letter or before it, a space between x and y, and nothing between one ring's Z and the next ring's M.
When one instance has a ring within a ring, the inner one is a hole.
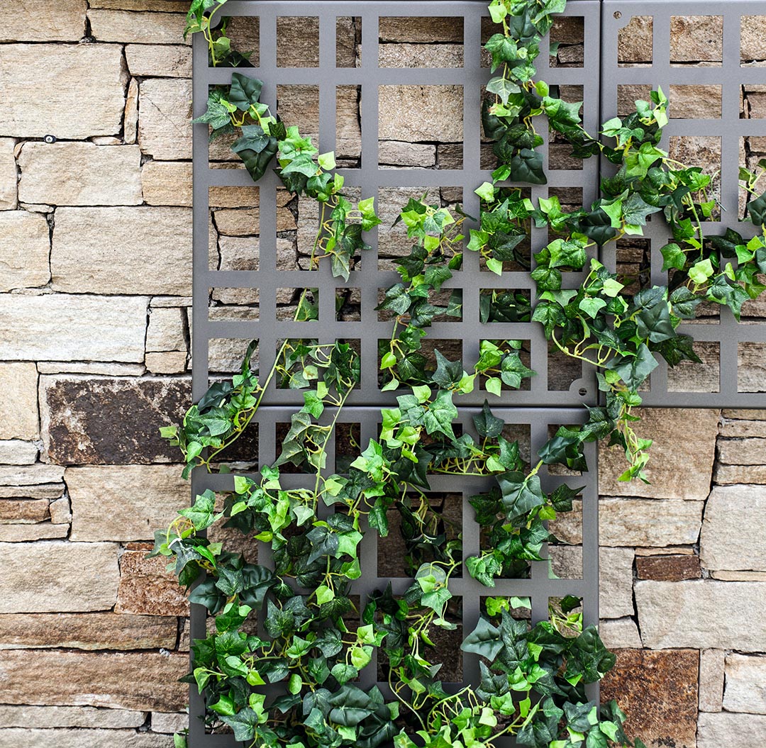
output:
M183 588L165 571L163 557L146 558L142 550L127 550L119 560L120 578L117 612L150 616L188 616L188 601Z

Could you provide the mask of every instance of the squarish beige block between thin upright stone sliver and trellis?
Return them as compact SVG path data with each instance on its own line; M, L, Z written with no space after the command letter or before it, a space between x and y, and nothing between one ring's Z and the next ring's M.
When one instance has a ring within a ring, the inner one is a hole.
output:
M150 78L141 83L139 145L154 158L191 158L191 80Z

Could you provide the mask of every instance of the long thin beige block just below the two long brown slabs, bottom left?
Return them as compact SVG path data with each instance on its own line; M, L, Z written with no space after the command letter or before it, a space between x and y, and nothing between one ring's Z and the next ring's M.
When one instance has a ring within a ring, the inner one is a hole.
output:
M141 727L145 714L96 707L0 706L0 727Z

